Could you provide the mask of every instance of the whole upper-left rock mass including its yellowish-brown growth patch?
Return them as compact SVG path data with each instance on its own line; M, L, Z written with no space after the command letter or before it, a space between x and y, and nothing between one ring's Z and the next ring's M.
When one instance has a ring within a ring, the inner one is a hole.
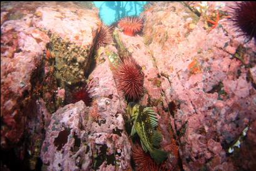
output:
M1 150L24 162L16 167L38 167L49 113L35 102L53 113L66 85L85 82L100 25L90 2L1 2Z

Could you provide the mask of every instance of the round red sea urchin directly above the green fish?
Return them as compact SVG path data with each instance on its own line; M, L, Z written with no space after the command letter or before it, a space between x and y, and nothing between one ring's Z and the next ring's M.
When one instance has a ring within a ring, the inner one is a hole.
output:
M118 89L123 91L128 99L138 100L142 97L144 75L133 57L123 59L115 69L115 78Z

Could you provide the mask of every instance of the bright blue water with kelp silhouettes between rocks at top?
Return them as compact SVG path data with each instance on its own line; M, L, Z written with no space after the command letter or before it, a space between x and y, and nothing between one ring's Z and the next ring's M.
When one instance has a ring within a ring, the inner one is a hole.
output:
M147 1L93 1L100 9L101 20L108 26L125 16L138 16Z

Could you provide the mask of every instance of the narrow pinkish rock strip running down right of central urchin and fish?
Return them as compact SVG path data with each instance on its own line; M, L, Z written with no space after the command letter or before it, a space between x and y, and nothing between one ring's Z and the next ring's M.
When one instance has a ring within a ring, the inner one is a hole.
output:
M154 107L154 109L159 114L159 125L161 133L163 134L163 141L161 142L161 147L170 152L169 161L165 162L166 169L175 169L178 163L178 145L172 134L174 127L169 127L173 125L173 120L169 119L169 113L163 110L163 103L166 103L165 96L161 92L161 78L158 73L158 68L155 66L155 59L151 56L150 51L147 51L147 47L143 42L143 37L136 36L126 36L123 32L116 31L116 34L120 37L120 41L131 56L138 61L138 64L142 68L144 74L144 88L145 94L140 100L141 105L148 105ZM116 38L117 39L117 38ZM121 45L120 45L121 46ZM167 126L168 125L168 126Z

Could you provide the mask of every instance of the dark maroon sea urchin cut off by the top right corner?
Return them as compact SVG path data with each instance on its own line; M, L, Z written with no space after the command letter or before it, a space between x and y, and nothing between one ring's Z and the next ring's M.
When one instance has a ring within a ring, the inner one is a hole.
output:
M237 31L242 32L240 36L247 37L248 41L254 37L256 44L256 2L236 2L236 6L231 8L230 20Z

